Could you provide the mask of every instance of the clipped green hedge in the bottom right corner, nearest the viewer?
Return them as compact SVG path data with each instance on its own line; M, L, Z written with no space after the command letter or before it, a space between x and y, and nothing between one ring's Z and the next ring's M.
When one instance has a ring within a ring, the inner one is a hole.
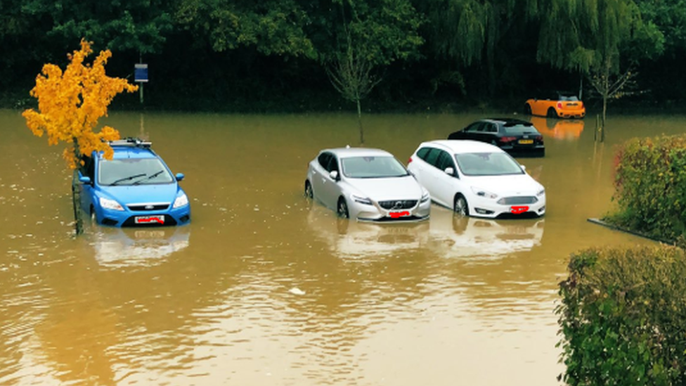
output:
M686 385L683 250L578 252L559 295L569 385Z

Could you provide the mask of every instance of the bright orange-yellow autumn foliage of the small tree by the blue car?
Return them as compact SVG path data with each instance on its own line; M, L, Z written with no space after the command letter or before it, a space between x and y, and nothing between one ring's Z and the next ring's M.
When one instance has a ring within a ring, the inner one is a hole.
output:
M112 158L112 148L106 141L119 139L119 131L108 126L98 133L93 129L98 119L107 115L112 98L122 91L138 89L126 79L105 75L110 51L101 51L92 65L84 64L92 52L91 43L82 39L81 49L68 56L70 63L64 72L57 65L44 65L31 90L31 96L38 99L38 111L27 109L22 113L34 135L48 135L48 144L73 143L63 153L72 169L78 167L79 155L91 155L94 150Z

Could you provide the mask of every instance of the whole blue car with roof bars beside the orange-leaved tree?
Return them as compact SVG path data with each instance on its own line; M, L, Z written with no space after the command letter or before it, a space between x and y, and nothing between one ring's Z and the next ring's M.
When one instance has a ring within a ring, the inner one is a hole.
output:
M79 169L84 212L97 224L109 226L183 225L190 221L190 204L179 181L150 142L112 141L112 160L93 152Z

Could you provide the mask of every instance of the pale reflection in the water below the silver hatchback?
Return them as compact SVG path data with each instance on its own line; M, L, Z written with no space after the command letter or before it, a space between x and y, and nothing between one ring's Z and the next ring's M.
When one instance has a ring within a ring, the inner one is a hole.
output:
M432 210L434 206L432 205ZM307 224L339 257L386 257L424 248L429 221L376 224L337 217L322 205L311 205Z

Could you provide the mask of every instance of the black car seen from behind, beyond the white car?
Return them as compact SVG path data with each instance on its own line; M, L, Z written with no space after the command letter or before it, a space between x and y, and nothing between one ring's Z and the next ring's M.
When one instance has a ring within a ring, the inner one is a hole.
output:
M543 135L531 122L514 118L478 120L460 131L451 133L448 139L472 139L491 143L507 153L545 155Z

